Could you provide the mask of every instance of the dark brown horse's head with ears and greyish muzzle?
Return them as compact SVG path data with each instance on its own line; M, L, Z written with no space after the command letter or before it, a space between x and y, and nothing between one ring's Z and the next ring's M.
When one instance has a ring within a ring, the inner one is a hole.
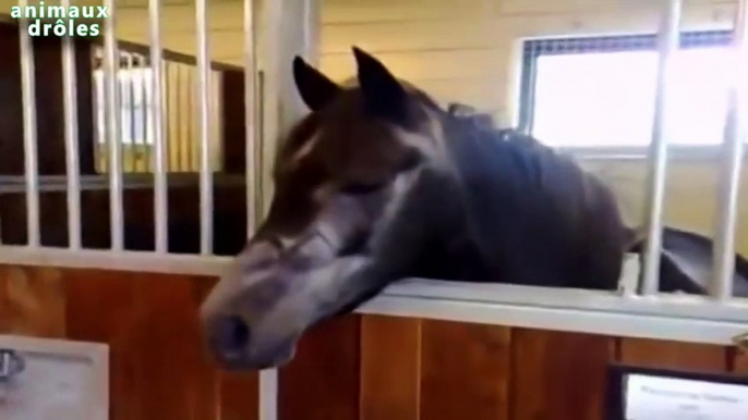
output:
M311 112L281 143L266 219L201 309L208 346L228 368L289 361L309 328L384 288L422 243L408 249L402 239L418 235L408 223L415 209L394 221L419 168L438 160L438 107L366 52L353 55L347 85L293 61ZM400 236L385 234L395 225Z

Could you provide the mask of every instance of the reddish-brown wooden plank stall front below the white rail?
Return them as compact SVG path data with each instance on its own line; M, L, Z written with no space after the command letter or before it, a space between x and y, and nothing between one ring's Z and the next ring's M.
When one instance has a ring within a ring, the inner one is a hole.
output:
M196 310L213 280L0 267L0 333L108 343L111 419L256 419L253 373L220 372ZM748 371L712 345L347 316L280 373L285 420L602 419L608 361Z

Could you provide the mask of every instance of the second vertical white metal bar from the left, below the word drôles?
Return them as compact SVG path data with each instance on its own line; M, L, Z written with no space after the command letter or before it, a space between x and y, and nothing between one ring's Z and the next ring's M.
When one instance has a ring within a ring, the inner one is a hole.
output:
M62 0L68 10L70 0ZM65 119L65 160L68 173L68 242L71 249L81 249L81 166L79 163L77 79L75 44L72 36L62 38L62 100Z

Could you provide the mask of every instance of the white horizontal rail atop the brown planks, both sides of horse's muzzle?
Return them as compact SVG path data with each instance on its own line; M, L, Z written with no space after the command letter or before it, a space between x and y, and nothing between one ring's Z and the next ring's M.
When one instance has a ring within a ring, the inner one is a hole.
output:
M233 259L196 255L0 246L0 264L220 276ZM638 273L630 272L636 281ZM622 282L626 282L624 279ZM493 325L728 345L748 332L748 299L407 279L357 309Z

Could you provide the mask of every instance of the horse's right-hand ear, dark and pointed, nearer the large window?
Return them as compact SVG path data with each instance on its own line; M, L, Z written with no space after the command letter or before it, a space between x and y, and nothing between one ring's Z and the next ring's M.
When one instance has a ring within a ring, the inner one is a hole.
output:
M353 47L353 55L366 111L396 122L405 121L408 95L400 82L381 61L358 47Z

